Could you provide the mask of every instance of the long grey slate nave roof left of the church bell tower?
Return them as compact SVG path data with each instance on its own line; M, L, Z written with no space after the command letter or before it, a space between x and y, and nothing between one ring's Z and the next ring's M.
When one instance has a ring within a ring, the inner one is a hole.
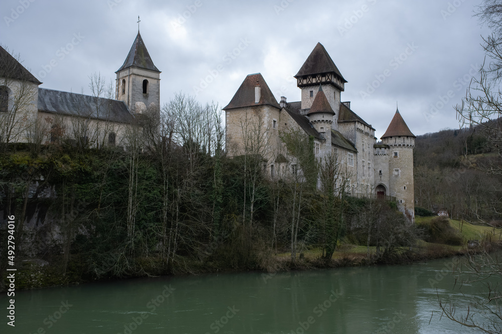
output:
M130 123L134 119L122 101L45 88L38 89L38 110L121 123Z

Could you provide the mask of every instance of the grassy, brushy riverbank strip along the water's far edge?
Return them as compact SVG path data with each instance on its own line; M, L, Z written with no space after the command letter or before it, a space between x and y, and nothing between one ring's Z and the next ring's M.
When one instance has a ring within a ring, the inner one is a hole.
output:
M455 226L458 225L458 222L451 221L451 224ZM101 269L93 275L85 272L86 259L81 258L79 255L73 255L70 258L66 273L62 273L58 266L51 265L46 261L25 259L21 261L22 266L18 268L16 273L16 288L22 290L162 275L183 276L246 271L262 271L271 274L290 270L321 270L383 264L399 265L502 249L500 231L468 223L464 223L462 227L462 235L472 236L474 230L478 232L489 232L491 230L492 232L485 233L479 246L475 248L468 248L466 244L451 246L421 240L411 249L409 247L397 247L393 253L380 257L376 256L376 247L374 246L368 248L367 246L342 243L337 247L330 260L321 259L322 250L318 248L303 250L297 255L294 262L291 260L291 254L287 252L259 254L256 261L240 264L231 264L229 261L223 260L217 253L208 256L203 261L178 256L170 268L164 265L162 258L141 258L136 261L141 267L132 267L129 274L121 276L113 275L113 267L117 261L116 256L111 256L108 261L100 263L98 267Z

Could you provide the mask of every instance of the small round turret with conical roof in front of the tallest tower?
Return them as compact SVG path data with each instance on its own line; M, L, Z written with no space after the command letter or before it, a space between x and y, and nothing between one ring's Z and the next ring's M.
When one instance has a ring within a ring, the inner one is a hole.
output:
M331 105L326 98L322 90L322 86L319 85L319 90L315 96L314 102L307 113L309 121L314 126L324 138L325 143L322 145L321 157L326 157L331 153L331 125L335 116L335 112L331 108Z

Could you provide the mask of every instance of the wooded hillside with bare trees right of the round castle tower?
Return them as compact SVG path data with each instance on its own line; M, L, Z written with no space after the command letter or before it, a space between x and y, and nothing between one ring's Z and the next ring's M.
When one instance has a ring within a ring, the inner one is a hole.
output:
M418 136L414 174L416 205L446 209L453 218L500 220L498 205L502 177L486 173L500 164L498 148L480 127L445 129Z

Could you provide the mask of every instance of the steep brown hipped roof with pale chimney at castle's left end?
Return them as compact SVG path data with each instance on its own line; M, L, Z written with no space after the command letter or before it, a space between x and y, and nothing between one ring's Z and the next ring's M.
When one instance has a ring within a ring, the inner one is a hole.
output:
M255 103L255 87L257 85L261 87L259 103ZM260 73L256 73L249 74L244 79L230 103L223 110L263 105L270 105L281 109L265 79L263 79Z

